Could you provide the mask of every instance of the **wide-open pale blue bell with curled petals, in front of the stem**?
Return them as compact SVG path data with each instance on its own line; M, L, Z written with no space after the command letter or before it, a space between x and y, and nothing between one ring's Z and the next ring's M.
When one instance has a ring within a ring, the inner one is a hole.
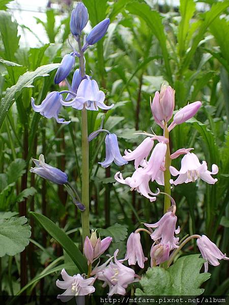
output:
M91 80L88 75L83 79L77 89L76 97L71 102L62 101L64 106L72 106L75 109L82 110L85 107L88 110L99 110L99 108L108 110L113 104L107 106L104 104L105 94L99 90L95 80Z

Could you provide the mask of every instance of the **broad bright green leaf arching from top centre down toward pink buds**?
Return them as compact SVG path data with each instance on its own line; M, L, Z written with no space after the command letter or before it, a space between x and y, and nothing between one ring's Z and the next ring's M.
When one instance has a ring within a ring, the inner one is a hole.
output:
M168 51L166 47L166 37L164 34L164 26L162 24L162 18L160 14L157 11L152 11L147 4L139 3L137 1L128 3L126 8L131 14L137 15L144 19L147 25L150 27L152 33L157 37L164 58L164 65L168 81L172 82L171 69L168 60Z

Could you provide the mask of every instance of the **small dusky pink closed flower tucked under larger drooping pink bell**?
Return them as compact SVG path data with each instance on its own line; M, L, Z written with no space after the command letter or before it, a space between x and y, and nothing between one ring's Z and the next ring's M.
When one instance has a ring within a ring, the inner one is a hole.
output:
M168 260L169 252L169 245L164 243L158 243L158 245L155 245L154 243L150 250L151 267L162 264Z

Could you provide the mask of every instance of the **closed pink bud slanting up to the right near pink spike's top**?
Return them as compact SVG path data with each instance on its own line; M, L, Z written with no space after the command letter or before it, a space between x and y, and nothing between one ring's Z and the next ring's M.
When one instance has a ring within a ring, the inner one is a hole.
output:
M193 117L201 107L201 102L194 102L181 108L175 115L173 122L169 125L168 131L171 131L176 125L186 122L189 118Z

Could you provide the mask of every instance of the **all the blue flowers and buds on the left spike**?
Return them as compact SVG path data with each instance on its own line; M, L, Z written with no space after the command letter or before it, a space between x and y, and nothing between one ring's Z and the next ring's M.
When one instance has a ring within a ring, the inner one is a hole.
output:
M75 65L75 57L78 57L79 59L83 58L83 53L85 50L87 50L89 46L94 45L104 37L107 32L110 20L109 18L106 18L98 23L95 27L93 27L92 31L85 37L84 45L81 46L81 33L87 23L88 10L80 2L72 11L70 19L70 29L74 39L78 43L78 52L73 49L71 53L66 54L63 57L61 66L56 71L54 77L55 84L60 84L61 82L65 81L65 83L68 85L68 90L62 90L61 92L50 92L40 105L36 105L35 100L33 98L31 99L31 104L34 111L39 112L46 118L54 117L56 122L59 124L70 123L70 121L66 121L64 118L59 117L62 106L71 106L77 110L82 110L85 108L87 110L93 111L98 111L99 108L108 110L113 107L113 104L110 106L104 104L104 92L99 90L96 80L91 79L89 75L84 75L84 71L82 72L80 68L75 70L72 78L72 83L69 84L67 81L67 77ZM63 94L66 93L67 97L64 99ZM115 134L110 134L108 131L100 129L90 135L88 140L91 141L101 131L107 132L107 136L105 138L106 158L104 162L100 162L100 164L103 167L108 167L113 161L119 166L128 163L120 154L118 139ZM37 167L32 168L31 171L39 174L43 178L55 182L56 184L68 184L67 175L61 172L59 169L44 163L43 155L41 156L41 162L38 162L38 160L34 159Z

